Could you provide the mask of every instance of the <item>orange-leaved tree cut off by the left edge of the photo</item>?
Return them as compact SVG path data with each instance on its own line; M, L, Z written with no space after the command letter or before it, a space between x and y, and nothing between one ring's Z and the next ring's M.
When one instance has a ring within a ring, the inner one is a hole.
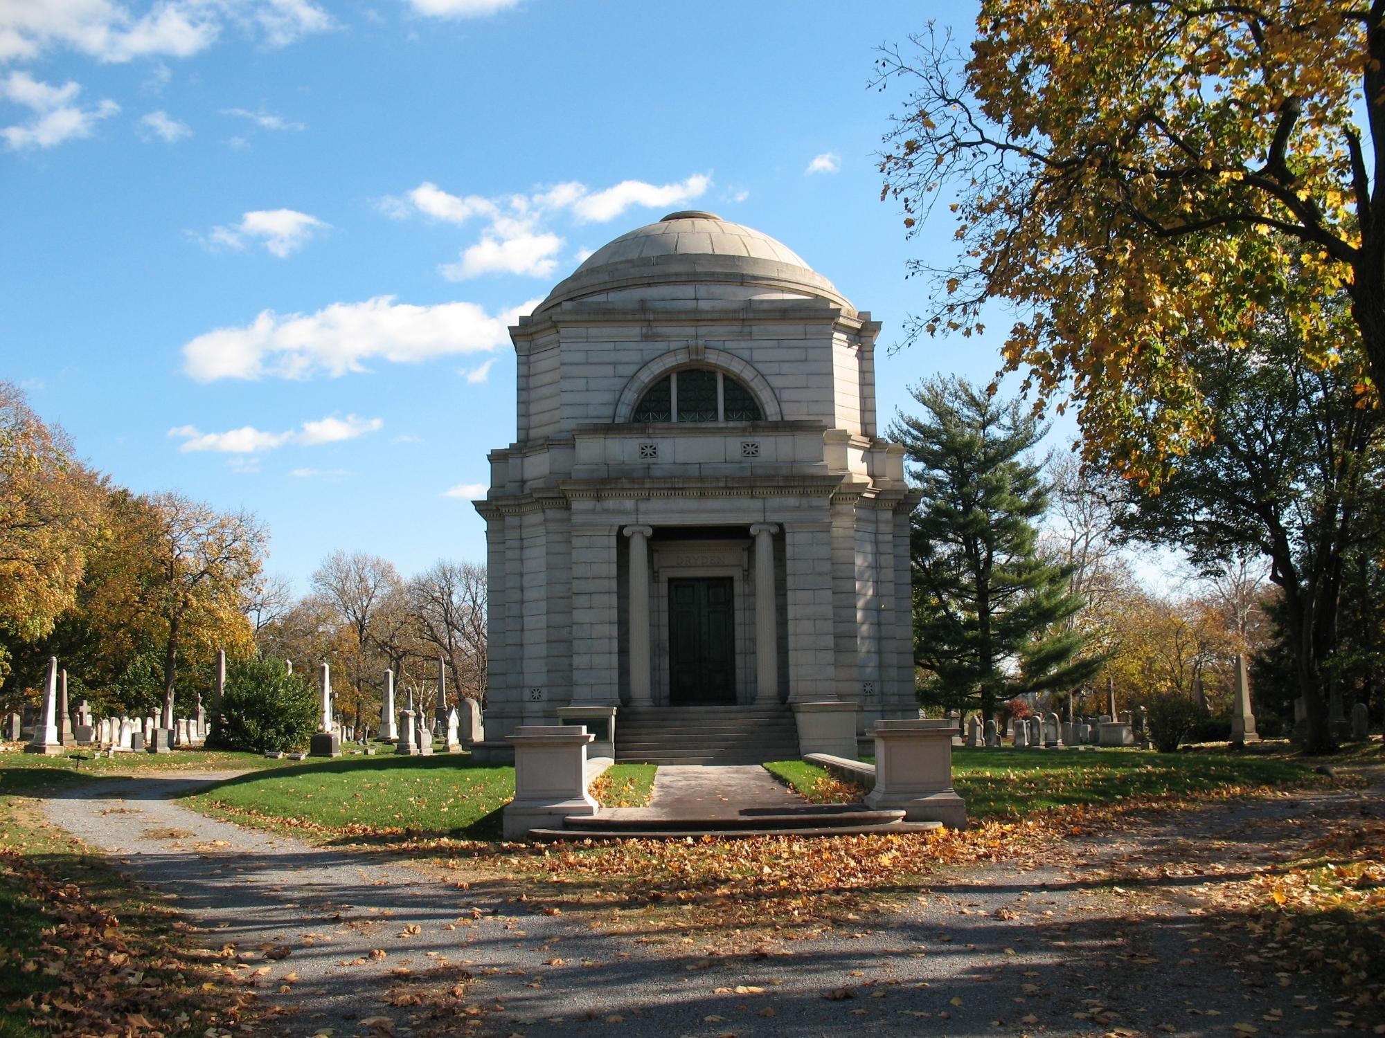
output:
M76 601L101 491L11 382L0 382L0 635L35 642ZM10 650L0 644L0 684Z

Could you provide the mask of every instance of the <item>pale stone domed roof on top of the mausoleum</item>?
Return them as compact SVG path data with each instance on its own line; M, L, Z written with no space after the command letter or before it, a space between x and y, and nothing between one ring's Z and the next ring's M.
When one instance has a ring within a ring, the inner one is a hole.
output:
M816 296L855 313L831 281L781 241L701 209L669 213L658 223L602 245L560 281L535 313L608 292L626 293L690 282L734 286L726 293L731 299ZM656 292L652 296L650 292L640 295L645 299L658 296ZM716 293L704 291L697 298L716 298Z

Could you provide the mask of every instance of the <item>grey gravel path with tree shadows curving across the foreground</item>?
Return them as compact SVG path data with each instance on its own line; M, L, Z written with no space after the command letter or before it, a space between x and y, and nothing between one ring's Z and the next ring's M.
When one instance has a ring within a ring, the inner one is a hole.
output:
M197 782L105 782L44 810L175 895L212 931L211 947L233 943L249 969L269 966L259 985L295 1008L281 1017L294 1035L382 1034L384 1017L416 1035L1251 1034L1238 1023L1260 1035L1337 1034L1341 1006L1327 992L1283 984L1246 958L1242 931L1201 915L1206 871L1170 879L1161 862L1184 861L1199 835L1230 835L1216 857L1234 876L1280 854L1285 826L1303 835L1314 819L1382 810L1375 787L1165 817L1042 861L936 875L907 909L859 930L708 956L681 936L607 936L591 918L536 913L483 884L458 889L166 799ZM1129 893L1112 890L1120 876ZM274 959L281 948L288 956ZM443 988L471 977L454 999L471 1016L429 1020L410 994L427 988L425 973ZM391 992L402 1005L382 1001Z

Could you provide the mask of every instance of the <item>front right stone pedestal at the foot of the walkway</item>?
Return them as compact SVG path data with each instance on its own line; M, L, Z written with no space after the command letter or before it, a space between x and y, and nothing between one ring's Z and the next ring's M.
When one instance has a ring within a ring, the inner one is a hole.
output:
M951 785L951 727L947 721L877 721L875 787L866 805L903 810L910 822L967 828L967 805Z

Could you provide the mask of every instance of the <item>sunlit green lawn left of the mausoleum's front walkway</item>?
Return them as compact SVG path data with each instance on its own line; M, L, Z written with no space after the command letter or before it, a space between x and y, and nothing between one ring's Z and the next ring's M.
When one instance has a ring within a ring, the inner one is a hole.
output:
M602 803L647 803L654 767L616 764L598 783ZM515 770L460 754L348 757L241 775L188 796L188 805L233 822L345 836L500 835Z

